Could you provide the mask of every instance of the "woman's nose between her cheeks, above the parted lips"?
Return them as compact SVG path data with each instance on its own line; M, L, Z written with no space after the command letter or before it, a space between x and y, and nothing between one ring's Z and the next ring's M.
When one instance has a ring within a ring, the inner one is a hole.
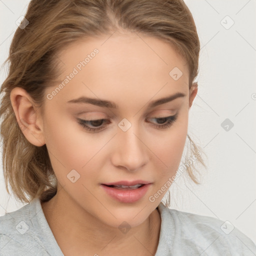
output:
M135 132L133 125L126 131L118 130L115 136L115 149L112 164L118 168L136 171L148 161L148 149L144 144L145 136Z

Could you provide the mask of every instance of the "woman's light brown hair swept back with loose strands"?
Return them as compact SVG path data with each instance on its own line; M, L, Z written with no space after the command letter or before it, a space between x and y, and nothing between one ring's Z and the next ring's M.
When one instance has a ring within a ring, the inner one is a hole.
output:
M24 19L11 41L9 56L4 61L9 63L8 75L0 89L0 93L4 92L0 129L5 186L9 193L9 182L15 198L21 202L35 197L49 200L56 193L57 183L46 145L35 146L23 135L10 92L14 87L25 89L43 112L44 90L59 75L56 53L61 48L77 39L116 31L155 36L175 48L188 67L189 88L197 86L193 80L198 74L200 44L183 0L31 0L25 18L29 23L20 28ZM195 154L199 150L187 137ZM197 160L205 166L200 154ZM198 184L193 167L193 163L189 164L186 172Z

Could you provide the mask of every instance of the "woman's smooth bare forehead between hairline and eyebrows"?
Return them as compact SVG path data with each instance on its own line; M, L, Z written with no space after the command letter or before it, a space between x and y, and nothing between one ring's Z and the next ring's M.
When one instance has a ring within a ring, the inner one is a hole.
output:
M127 33L80 39L59 51L58 58L63 70L59 82L75 73L62 89L65 99L82 92L100 98L113 92L150 98L161 88L161 96L188 90L183 59L168 42L152 36ZM182 75L174 80L171 70Z

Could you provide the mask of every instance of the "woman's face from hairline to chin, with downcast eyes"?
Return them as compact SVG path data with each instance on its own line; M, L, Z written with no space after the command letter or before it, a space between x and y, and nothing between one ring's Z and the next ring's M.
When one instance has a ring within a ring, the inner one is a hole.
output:
M157 207L179 166L187 134L184 61L167 42L140 37L90 38L63 49L60 82L46 89L41 117L58 193L113 227L123 221L136 226ZM178 79L174 71L169 74L175 67L182 71ZM123 180L150 184L129 190L102 185ZM117 198L107 192L113 189Z

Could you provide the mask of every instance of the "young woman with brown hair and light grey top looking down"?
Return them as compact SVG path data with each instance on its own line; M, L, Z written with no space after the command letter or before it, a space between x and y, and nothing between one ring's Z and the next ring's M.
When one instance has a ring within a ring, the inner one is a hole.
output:
M32 0L1 87L3 169L21 202L0 255L254 255L222 220L168 208L197 93L182 0ZM193 165L184 172L197 182Z

